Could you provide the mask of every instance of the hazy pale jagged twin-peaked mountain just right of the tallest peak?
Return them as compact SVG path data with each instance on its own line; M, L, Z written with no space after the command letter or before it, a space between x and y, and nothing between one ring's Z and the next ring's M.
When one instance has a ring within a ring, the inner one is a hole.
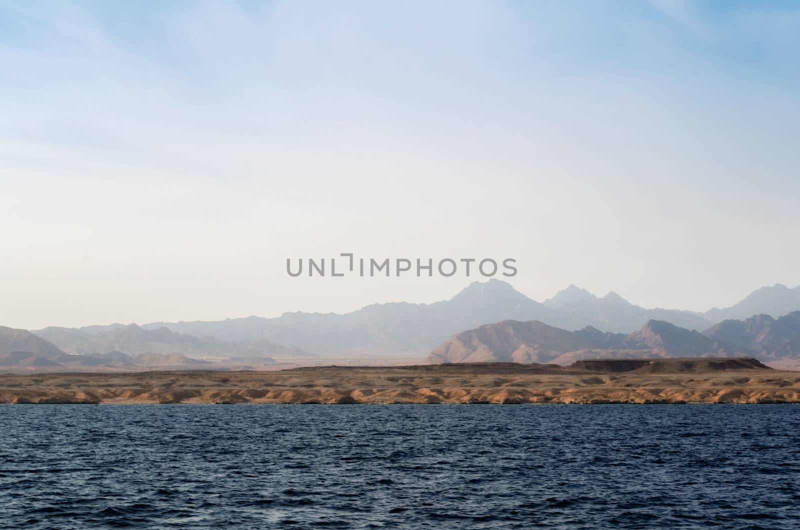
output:
M649 320L664 320L679 327L703 330L712 322L702 315L677 309L645 309L623 299L614 291L598 298L586 289L570 285L558 291L553 298L546 299L546 307L570 315L572 326L593 326L605 331L630 333L642 327Z

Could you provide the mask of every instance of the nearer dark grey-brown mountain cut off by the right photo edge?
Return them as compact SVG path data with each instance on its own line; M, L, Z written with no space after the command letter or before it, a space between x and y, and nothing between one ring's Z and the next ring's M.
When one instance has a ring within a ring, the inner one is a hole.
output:
M703 332L711 339L742 344L773 365L800 365L800 311L774 319L756 315L745 320L725 320Z

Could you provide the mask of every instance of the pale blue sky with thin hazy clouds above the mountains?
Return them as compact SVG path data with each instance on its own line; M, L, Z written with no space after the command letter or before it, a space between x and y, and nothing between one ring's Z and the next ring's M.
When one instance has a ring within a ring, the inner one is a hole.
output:
M800 284L797 2L0 0L0 325Z

